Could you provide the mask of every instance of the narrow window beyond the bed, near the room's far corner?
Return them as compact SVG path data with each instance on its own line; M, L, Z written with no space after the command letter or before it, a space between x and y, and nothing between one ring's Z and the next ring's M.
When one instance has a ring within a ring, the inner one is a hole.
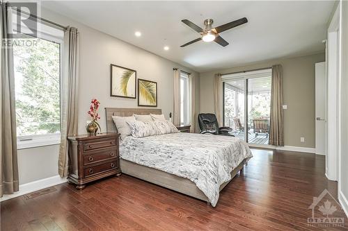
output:
M180 71L180 124L188 125L191 122L191 96L189 74Z

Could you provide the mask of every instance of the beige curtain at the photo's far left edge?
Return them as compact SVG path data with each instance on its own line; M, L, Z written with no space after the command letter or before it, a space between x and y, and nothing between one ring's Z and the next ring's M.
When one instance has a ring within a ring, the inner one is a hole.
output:
M3 194L13 194L19 190L17 164L17 134L15 117L15 74L13 67L13 49L3 47L8 37L10 27L10 8L0 4L1 24L1 94L0 94L0 197Z

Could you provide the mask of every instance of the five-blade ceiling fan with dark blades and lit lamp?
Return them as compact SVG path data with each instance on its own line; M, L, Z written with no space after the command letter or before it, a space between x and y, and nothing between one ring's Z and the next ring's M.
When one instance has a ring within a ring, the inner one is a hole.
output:
M212 24L214 22L213 19L205 19L204 20L204 25L205 25L204 30L203 30L203 28L200 28L199 26L197 26L196 24L193 24L193 22L191 22L187 19L183 19L183 20L181 20L181 22L183 22L184 24L187 24L187 26L193 28L193 30L200 33L201 37L199 37L196 40L192 40L191 42L187 42L187 43L181 45L180 47L184 47L184 46L187 46L189 44L193 44L194 42L198 42L200 40L203 40L204 42L214 41L214 42L220 44L221 46L227 46L228 42L226 42L226 40L224 40L219 35L219 33L223 32L223 31L230 30L231 28L234 28L236 26L240 26L242 24L245 24L248 22L248 19L246 19L246 17L243 17L242 19L238 19L238 20L235 20L233 22L229 22L227 24L217 26L215 28L212 28Z

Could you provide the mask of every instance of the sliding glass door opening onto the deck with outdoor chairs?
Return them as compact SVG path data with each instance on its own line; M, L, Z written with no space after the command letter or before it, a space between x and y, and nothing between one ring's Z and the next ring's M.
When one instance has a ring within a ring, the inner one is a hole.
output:
M223 126L251 144L269 144L271 69L223 76Z

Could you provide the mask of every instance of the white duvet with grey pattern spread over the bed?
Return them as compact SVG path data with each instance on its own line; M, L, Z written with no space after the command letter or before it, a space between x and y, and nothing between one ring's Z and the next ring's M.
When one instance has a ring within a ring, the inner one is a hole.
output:
M230 172L253 155L236 137L178 132L125 137L120 157L191 180L215 207L220 185L231 180Z

